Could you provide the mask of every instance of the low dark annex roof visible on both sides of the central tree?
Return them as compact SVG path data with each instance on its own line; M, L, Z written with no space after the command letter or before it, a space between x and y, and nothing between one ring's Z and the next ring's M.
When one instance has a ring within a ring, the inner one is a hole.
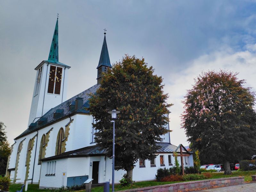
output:
M178 147L175 145L172 145L170 143L161 143L158 142L156 145L160 146L161 148L157 150L156 153L173 153ZM177 151L180 152L179 149ZM187 153L187 151L182 150L183 153ZM65 153L62 153L60 155L55 155L51 157L47 157L44 159L41 159L42 161L48 161L53 159L63 159L63 158L70 158L70 157L85 157L85 156L98 156L98 155L104 155L106 154L106 149L100 150L100 147L94 145L89 147L84 147L72 151L68 151Z

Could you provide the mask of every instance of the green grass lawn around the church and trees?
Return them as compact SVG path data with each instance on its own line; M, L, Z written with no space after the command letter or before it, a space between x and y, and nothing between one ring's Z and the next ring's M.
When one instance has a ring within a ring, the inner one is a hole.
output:
M256 171L244 171L244 172L232 172L232 175L224 175L224 172L218 172L218 173L212 173L211 179L218 179L223 177L236 177L236 176L244 176L245 181L252 181L251 175L255 175ZM142 188L142 187L150 187L155 185L164 185L164 184L171 184L171 183L179 183L179 182L186 182L186 181L175 181L175 182L157 182L157 181L141 181L141 182L135 182L131 187L122 187L120 188L120 185L115 185L115 191L122 191L125 189L132 189L132 188ZM15 192L16 190L21 189L22 184L12 184L10 186L10 192ZM44 192L50 192L49 189L38 189L38 185L36 184L29 184L28 186L29 192L34 191L44 191ZM80 190L84 191L84 190ZM111 189L110 189L111 191ZM78 192L78 191L77 191ZM92 192L103 192L103 187L95 187L92 188Z

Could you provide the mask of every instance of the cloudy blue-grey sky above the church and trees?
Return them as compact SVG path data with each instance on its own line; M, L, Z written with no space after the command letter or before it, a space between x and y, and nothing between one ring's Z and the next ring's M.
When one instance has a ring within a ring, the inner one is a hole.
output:
M208 69L239 72L256 91L255 1L0 1L0 121L13 139L27 129L36 71L47 60L59 13L59 61L69 69L68 98L96 84L103 29L111 63L144 57L169 94L171 143L186 90Z

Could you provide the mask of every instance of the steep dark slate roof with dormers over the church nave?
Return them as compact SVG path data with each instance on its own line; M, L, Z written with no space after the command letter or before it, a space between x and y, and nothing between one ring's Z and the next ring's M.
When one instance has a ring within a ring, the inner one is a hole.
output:
M37 131L38 129L45 127L48 124L53 123L54 121L57 121L59 119L62 119L66 116L70 116L71 114L74 113L89 113L89 111L87 111L85 108L89 107L89 93L95 94L96 90L100 87L100 84L96 84L92 87L90 87L89 89L77 94L76 96L70 98L69 100L66 100L65 102L61 103L60 105L51 108L48 112L45 113L45 115L43 115L43 118L39 118L35 123L33 123L33 126L29 126L29 128L24 131L23 133L21 133L18 137L16 137L15 139L18 139L30 132L34 132ZM69 110L69 106L71 103L74 103L74 101L76 100L76 98L83 98L83 106L78 108L77 110ZM59 114L58 116L56 116L54 118L54 113L55 112L59 112L62 111L61 114ZM40 122L38 124L38 121L44 120L43 122Z

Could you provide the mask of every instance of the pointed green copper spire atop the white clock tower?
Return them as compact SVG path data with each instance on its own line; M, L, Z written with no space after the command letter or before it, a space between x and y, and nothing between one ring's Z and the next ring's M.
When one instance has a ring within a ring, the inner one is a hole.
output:
M58 41L58 36L59 36L59 27L58 27L58 18L56 21L55 25L55 30L53 34L53 41L49 53L48 60L49 61L59 61L59 41Z

